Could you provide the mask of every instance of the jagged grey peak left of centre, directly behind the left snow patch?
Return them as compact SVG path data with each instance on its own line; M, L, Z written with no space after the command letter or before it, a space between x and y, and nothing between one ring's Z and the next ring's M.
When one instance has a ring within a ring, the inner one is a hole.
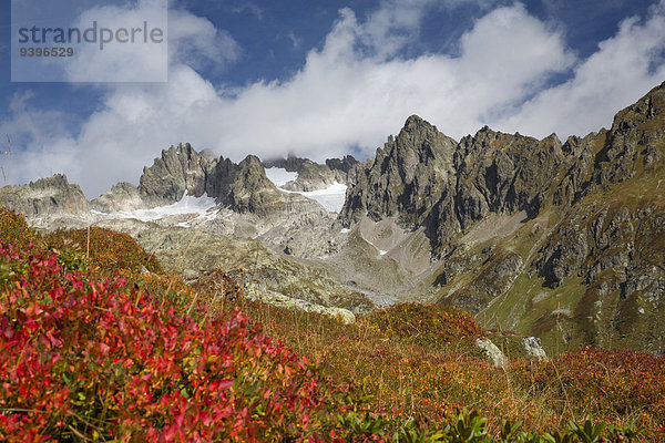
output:
M201 197L211 188L209 181L219 161L209 151L200 154L188 143L171 146L151 167L143 168L141 198L158 206L178 202L185 194Z

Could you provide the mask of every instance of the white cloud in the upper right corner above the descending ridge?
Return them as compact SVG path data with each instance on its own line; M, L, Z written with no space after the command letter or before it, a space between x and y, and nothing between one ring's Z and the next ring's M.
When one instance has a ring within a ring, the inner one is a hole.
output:
M665 80L665 2L649 12L645 22L624 20L616 35L575 66L571 80L540 92L499 126L561 137L608 127L617 111Z

